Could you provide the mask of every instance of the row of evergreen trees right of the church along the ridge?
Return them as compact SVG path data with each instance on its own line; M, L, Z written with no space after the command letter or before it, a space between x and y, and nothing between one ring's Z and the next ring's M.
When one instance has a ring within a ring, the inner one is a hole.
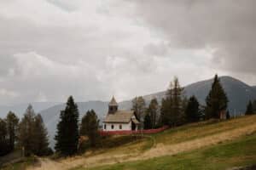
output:
M189 122L199 122L211 118L220 119L221 112L224 112L226 118L229 119L228 102L229 99L218 75L214 77L211 90L206 98L206 105L200 105L195 95L187 99L178 78L174 77L166 90L165 97L161 99L160 105L158 100L154 98L151 99L147 107L141 96L132 100L132 110L142 122L141 128L150 129L164 125L177 127Z

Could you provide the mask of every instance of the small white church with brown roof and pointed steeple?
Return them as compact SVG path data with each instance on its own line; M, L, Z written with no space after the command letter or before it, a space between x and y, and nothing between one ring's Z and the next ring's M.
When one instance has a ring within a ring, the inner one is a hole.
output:
M111 99L108 114L103 121L103 131L136 131L139 124L134 111L119 111L118 103L114 97Z

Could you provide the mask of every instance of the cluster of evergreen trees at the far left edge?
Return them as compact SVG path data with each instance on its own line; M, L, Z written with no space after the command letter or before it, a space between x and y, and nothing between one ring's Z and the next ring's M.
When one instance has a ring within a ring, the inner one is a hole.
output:
M5 119L0 119L0 156L21 149L25 156L47 156L49 148L48 133L43 118L29 105L21 120L9 111Z

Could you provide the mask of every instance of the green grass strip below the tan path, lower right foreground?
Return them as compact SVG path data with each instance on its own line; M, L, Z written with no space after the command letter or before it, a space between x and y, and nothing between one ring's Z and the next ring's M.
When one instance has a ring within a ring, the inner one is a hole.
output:
M226 169L253 164L256 164L256 134L233 142L178 154L177 156L162 156L145 161L130 161L92 167L88 170ZM76 170L85 170L85 168L78 167Z

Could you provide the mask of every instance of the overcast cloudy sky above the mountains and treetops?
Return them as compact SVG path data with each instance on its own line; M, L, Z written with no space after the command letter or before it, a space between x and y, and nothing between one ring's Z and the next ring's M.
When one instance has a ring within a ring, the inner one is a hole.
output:
M229 75L256 84L256 1L3 0L0 104L118 100Z

